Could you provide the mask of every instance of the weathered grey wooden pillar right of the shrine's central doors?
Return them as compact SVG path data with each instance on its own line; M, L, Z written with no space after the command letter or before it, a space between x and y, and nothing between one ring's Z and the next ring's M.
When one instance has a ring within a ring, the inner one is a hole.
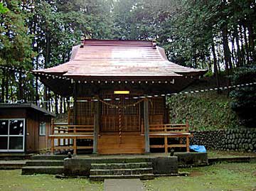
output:
M145 153L150 153L150 148L149 148L149 99L144 99L144 136L145 136Z

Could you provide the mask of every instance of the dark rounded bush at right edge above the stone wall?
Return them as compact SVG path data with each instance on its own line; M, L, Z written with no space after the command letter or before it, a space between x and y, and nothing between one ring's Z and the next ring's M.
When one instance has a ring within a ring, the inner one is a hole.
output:
M231 76L233 84L256 82L256 67L242 67ZM230 92L233 102L231 108L238 114L240 124L255 127L256 123L256 87L242 87Z

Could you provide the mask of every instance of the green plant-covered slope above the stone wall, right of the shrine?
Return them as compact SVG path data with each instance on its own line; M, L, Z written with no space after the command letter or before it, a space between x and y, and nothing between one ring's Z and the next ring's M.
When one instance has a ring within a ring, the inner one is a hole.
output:
M171 123L184 123L186 117L191 130L232 129L238 119L230 109L225 95L189 94L170 97L168 100Z

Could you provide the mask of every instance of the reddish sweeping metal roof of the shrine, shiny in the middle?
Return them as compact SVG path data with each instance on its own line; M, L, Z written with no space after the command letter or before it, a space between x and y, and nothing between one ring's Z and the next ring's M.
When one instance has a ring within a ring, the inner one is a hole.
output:
M203 75L196 70L169 62L164 49L151 41L85 40L83 47L73 47L69 62L34 72L54 73L65 77L182 77ZM105 80L105 79L102 79Z

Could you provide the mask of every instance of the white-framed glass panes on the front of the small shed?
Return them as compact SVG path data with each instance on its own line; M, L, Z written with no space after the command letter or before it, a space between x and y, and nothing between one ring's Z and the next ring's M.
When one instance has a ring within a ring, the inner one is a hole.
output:
M0 119L0 151L24 151L25 119Z

